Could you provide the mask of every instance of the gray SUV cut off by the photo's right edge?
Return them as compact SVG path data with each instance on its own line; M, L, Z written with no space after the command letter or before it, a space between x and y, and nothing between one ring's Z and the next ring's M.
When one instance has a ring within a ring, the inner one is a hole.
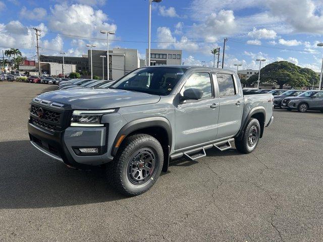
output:
M323 111L323 91L307 91L297 97L286 97L282 101L282 107L287 110L297 109L299 112Z

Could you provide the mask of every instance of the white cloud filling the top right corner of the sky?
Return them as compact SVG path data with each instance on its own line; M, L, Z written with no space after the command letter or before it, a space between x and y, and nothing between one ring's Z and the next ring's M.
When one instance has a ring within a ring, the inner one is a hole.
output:
M322 1L268 0L266 5L274 16L288 23L294 32L323 33Z

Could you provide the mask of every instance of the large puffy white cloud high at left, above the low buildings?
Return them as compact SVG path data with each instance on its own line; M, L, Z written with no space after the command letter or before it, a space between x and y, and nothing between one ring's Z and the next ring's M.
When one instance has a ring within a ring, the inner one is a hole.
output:
M93 37L100 36L101 29L117 29L117 25L106 22L107 16L102 10L94 10L87 5L55 5L50 11L49 27L63 34Z

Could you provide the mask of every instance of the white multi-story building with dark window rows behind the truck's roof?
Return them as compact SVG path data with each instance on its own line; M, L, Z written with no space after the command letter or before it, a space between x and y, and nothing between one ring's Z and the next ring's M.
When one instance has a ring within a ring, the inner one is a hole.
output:
M146 63L148 49L146 49ZM182 65L182 50L150 49L150 66Z

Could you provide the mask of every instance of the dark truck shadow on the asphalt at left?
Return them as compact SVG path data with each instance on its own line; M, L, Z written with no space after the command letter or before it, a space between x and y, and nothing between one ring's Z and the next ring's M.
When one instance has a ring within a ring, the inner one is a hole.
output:
M0 143L0 209L46 208L124 199L102 168L80 171L47 158L29 141Z

